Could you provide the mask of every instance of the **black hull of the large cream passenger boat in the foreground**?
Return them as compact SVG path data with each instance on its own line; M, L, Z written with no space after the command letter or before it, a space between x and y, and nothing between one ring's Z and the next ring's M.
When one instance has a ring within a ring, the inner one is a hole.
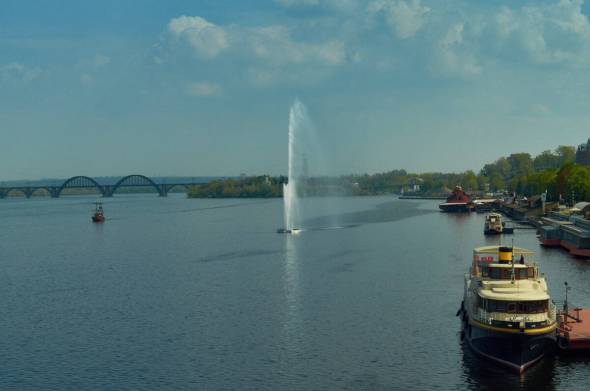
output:
M461 309L460 316L471 349L512 372L523 372L555 344L555 329L539 334L492 330L470 322L464 309Z

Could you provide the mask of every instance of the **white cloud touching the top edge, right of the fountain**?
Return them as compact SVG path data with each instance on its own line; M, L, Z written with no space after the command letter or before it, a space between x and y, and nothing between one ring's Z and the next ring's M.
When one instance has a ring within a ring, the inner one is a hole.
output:
M387 24L391 25L398 38L403 40L414 37L418 29L426 24L422 15L429 12L430 8L421 6L419 0L376 0L369 3L365 11L373 17L379 12L384 12Z

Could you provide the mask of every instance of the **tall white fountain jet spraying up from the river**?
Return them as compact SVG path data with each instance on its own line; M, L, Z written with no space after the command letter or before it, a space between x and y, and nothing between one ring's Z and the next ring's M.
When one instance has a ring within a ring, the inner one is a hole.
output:
M297 196L299 178L297 178L294 170L294 146L296 143L296 134L300 132L300 126L305 116L304 111L303 104L298 99L294 101L289 111L289 183L283 184L286 228L277 230L277 232L281 233L297 234L301 232L299 228L294 228L295 224L300 224L299 221L296 221L296 218L299 217L299 198Z

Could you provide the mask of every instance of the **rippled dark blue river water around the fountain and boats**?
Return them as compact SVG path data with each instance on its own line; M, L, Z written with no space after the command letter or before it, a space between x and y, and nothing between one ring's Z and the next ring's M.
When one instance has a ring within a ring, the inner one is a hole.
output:
M93 202L106 221L91 222ZM183 194L0 200L2 390L581 390L587 356L515 375L460 338L479 213L395 196ZM535 252L554 300L590 308L590 262Z

